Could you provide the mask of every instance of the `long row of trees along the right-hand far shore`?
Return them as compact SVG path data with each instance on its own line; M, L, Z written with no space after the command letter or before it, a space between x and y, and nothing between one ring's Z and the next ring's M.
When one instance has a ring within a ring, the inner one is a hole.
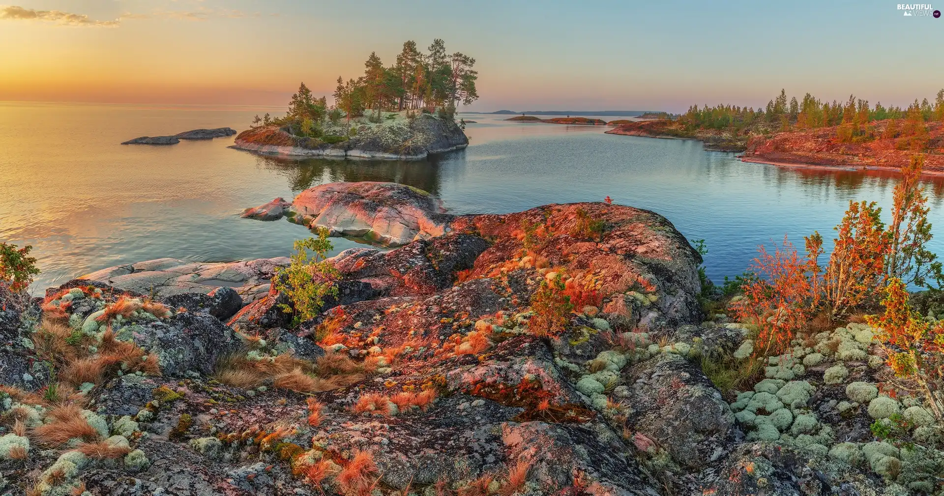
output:
M779 128L782 131L838 126L836 137L839 141L861 142L877 137L869 123L886 119L892 121L886 126L883 138L926 135L924 123L944 121L944 90L937 91L934 104L927 98L920 103L916 99L907 109L885 108L881 102L870 107L868 100L857 99L853 95L846 103L835 100L829 103L810 93L806 93L801 101L796 97L787 101L786 91L781 90L780 95L770 100L766 108L755 110L753 107L732 105L696 105L689 107L679 117L679 123L689 131L726 129L737 133L752 124L767 124L768 128ZM900 120L904 120L904 123L899 124Z

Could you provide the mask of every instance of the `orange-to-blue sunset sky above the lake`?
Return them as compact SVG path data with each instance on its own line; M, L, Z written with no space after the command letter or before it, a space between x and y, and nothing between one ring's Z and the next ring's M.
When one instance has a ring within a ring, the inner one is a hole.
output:
M3 0L0 0L3 2ZM944 8L944 4L935 8ZM885 1L18 0L0 3L0 101L280 106L376 51L473 58L463 110L906 106L944 88L944 17ZM929 12L930 13L930 12Z

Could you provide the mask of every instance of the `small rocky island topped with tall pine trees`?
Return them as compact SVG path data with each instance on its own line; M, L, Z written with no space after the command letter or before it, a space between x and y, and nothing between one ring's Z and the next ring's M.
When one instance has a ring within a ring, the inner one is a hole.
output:
M414 160L468 145L456 107L479 98L475 58L434 40L427 53L403 43L396 63L376 53L357 79L338 76L334 103L315 98L304 83L285 116L256 116L233 148L264 155Z

